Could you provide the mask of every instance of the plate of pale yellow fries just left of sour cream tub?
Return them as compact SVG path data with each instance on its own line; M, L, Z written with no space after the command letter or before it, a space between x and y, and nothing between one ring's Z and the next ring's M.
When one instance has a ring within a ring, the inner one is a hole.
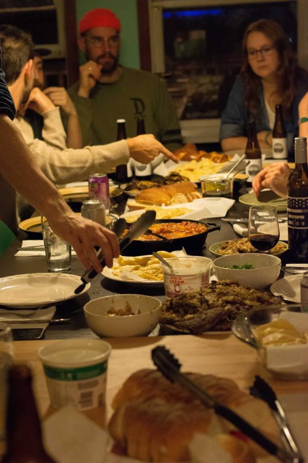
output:
M163 259L172 257L187 256L184 248L182 251L174 251L168 253L167 251L158 251ZM104 267L102 275L110 280L121 281L122 283L129 283L133 286L164 286L164 275L161 268L160 261L152 256L119 256L118 259L113 259L112 268Z

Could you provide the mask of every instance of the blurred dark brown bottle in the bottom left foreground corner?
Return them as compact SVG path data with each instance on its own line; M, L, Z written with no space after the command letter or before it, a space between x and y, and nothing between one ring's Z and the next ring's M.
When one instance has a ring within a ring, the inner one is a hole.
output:
M31 371L26 365L10 369L7 450L2 463L55 463L43 447L31 382Z

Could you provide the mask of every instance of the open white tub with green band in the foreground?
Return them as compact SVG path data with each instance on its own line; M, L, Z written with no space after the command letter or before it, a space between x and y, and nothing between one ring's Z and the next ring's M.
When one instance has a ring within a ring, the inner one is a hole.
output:
M61 340L38 349L51 405L80 411L103 406L110 352L109 343L96 339Z

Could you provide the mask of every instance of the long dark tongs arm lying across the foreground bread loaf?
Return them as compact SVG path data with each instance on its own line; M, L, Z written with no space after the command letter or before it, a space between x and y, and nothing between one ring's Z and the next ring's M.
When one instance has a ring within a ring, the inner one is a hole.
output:
M259 446L268 453L275 455L285 463L303 462L303 460L298 455L295 455L294 452L278 447L276 443L269 440L232 409L221 404L205 390L200 389L200 387L198 387L194 382L190 381L185 374L180 373L181 364L165 347L158 346L155 349L152 349L151 355L154 364L169 381L179 383L181 386L185 387L190 394L196 396L204 405L209 408L214 408L217 415L220 415L230 423L234 424L240 431L257 442L257 444L259 444Z

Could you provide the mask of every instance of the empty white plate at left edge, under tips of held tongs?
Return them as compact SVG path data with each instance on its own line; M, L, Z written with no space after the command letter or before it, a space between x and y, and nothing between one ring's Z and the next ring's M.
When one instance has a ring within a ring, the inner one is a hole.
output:
M63 302L86 293L87 283L80 294L74 294L81 284L80 276L66 273L28 273L0 278L0 306L35 308Z

